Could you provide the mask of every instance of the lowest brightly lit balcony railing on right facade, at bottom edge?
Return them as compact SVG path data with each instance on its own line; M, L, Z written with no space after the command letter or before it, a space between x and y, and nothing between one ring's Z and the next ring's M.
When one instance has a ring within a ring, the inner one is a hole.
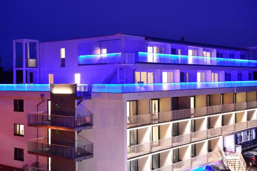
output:
M199 164L207 163L207 162L215 162L221 160L221 155L219 154L219 151L212 151L210 153L200 155L193 157L191 159L179 161L177 163L173 163L168 166L164 166L158 169L155 169L153 171L178 171L178 170L185 170L190 167L194 167Z

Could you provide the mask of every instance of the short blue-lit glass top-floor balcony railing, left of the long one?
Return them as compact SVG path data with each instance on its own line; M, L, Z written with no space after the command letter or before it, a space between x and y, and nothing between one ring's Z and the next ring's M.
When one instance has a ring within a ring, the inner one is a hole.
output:
M133 53L107 53L80 55L79 65L92 64L134 64L135 54Z

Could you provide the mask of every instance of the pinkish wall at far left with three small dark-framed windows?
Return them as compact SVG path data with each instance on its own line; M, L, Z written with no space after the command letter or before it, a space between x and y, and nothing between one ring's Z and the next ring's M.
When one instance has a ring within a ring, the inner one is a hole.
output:
M0 164L22 168L25 164L36 162L36 156L27 153L28 140L37 138L36 127L27 125L27 113L36 112L36 104L42 101L40 94L44 94L45 99L50 99L49 92L0 91ZM24 112L13 111L14 99L24 100ZM39 106L39 111L47 111L47 100ZM24 137L14 136L14 123L24 125ZM43 137L47 137L47 129L39 128L39 138ZM24 149L24 161L14 160L14 147ZM47 164L47 158L39 157L39 162Z

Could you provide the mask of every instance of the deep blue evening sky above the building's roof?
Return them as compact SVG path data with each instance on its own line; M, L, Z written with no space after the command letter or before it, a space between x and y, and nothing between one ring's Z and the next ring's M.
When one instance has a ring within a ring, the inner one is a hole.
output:
M127 33L234 47L257 46L256 0L7 0L0 2L0 58L12 40L56 41Z

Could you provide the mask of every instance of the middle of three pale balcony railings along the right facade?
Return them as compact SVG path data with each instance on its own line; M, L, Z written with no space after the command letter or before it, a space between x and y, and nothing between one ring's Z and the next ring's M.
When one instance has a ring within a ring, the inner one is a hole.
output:
M247 121L242 123L236 123L236 124L211 128L207 130L200 130L197 132L192 132L191 134L180 135L180 136L171 137L167 139L161 139L158 141L152 141L148 143L133 145L133 146L127 147L127 158L149 154L157 150L171 148L177 145L187 144L197 140L203 140L211 137L221 136L222 134L227 134L228 132L233 132L239 129L251 128L255 126L257 126L257 120L252 120L252 121ZM208 158L212 158L212 156L209 156Z

